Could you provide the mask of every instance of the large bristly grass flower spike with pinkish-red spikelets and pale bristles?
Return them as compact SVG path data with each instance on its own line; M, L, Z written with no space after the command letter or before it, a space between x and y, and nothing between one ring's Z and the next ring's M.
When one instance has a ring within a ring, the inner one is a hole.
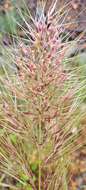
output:
M69 46L54 21L39 18L34 29L27 23L29 45L11 53L17 71L0 79L0 170L24 190L64 189L83 131L84 82L64 62Z

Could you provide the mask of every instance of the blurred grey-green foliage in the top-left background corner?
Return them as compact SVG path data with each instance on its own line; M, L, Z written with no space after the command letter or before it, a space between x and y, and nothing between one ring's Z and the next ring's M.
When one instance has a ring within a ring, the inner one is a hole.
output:
M6 1L6 0L5 0ZM3 7L0 9L0 35L17 35L17 27L18 23L22 24L23 20L21 19L21 16L18 14L17 9L24 8L23 1L20 3L16 0L9 0L10 4L8 4L8 8L4 6L5 2L3 4L0 3L0 7ZM26 5L26 3L25 3Z

